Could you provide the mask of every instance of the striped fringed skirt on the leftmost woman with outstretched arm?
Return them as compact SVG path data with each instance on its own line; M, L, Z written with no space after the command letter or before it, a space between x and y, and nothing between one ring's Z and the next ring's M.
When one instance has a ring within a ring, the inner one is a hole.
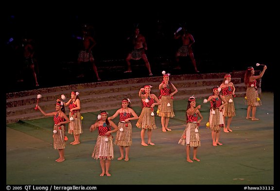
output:
M65 124L58 126L54 124L53 130L56 130L56 133L53 134L53 148L54 149L65 149Z

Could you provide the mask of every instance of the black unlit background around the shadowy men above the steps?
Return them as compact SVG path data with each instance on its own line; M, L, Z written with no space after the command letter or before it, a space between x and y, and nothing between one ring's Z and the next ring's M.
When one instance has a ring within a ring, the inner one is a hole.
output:
M92 26L91 31L97 41L93 54L97 68L103 70L100 72L103 81L131 77L122 72L106 74L105 70L110 70L114 65L126 67L126 38L132 35L137 24L140 33L146 37L147 56L154 76L161 75L162 69L156 68L159 64L157 62L169 60L170 64L174 63L175 51L180 45L180 40L174 39L174 32L186 24L187 30L195 39L192 48L198 69L202 73L245 70L249 66L262 70L262 66L256 67L256 63L265 64L268 69L262 77L262 89L273 91L270 81L274 76L277 55L274 5L252 4L244 7L241 4L220 4L218 8L213 4L192 7L178 3L176 6L131 5L124 9L114 8L112 5L110 8L95 6L94 11L85 10L83 13L49 10L47 13L27 11L2 16L4 27L1 45L6 58L5 73L9 76L6 82L10 82L6 92L35 88L33 85L22 86L15 82L17 55L14 47L21 43L22 38L32 38L35 42L40 87L82 82L75 76L70 81L71 73L65 68L77 61L81 49L81 40L77 36L81 36L84 24ZM162 26L163 36L157 33L159 24ZM14 41L8 43L11 37ZM160 61L158 57L161 58ZM171 72L176 74L193 71ZM140 77L142 73L135 74L135 77Z

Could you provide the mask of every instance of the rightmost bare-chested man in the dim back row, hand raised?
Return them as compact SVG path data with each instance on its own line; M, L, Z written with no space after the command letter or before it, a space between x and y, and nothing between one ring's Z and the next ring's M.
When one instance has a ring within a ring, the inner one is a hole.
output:
M180 32L175 32L174 34L175 39L179 39L181 38L183 45L178 49L178 51L176 52L175 58L176 58L176 62L179 62L179 57L186 57L186 56L190 56L190 59L192 61L192 65L194 67L194 70L196 72L199 72L196 68L196 62L193 56L193 52L192 52L192 44L194 43L194 39L193 36L187 32L187 30L185 29L185 27L182 28L182 31ZM177 69L180 69L180 66L176 67Z

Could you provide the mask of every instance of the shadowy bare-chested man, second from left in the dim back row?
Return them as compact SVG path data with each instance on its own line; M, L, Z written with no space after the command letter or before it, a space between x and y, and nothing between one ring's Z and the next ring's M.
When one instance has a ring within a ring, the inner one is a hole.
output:
M88 63L92 64L92 69L95 72L97 80L101 80L98 75L98 71L95 65L95 61L92 55L92 48L96 45L96 41L93 39L92 36L89 35L89 32L84 29L83 30L83 50L80 51L78 57L78 64L81 63ZM82 74L83 75L83 74Z

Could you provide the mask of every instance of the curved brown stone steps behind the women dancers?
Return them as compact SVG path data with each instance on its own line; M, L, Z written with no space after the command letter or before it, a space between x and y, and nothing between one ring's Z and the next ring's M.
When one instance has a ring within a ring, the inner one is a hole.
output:
M225 73L171 75L170 81L178 89L174 99L188 99L193 94L197 98L207 98L212 93L212 87L220 86L224 75ZM231 75L236 95L238 97L245 96L244 71L232 72ZM85 113L119 108L123 98L129 98L133 106L141 105L138 96L140 88L151 85L153 86L151 92L159 96L158 85L161 81L161 76L133 78L7 93L6 123L44 117L40 111L34 109L37 94L42 95L39 105L48 113L54 111L56 99L59 99L61 94L67 97L65 100L67 102L70 99L70 92L76 90L80 93L81 113ZM261 84L260 82L258 84L259 87ZM261 89L259 89L260 91ZM66 107L66 113L69 113L68 107Z

